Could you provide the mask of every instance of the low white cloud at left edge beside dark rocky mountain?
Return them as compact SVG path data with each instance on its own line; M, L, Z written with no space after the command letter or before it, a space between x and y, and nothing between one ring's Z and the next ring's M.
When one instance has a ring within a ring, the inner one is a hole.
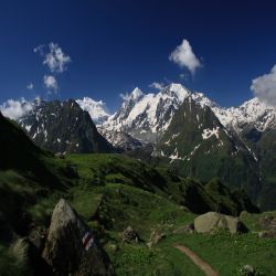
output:
M13 120L18 120L28 112L32 110L32 103L26 102L24 98L21 98L20 100L8 99L6 103L0 105L2 115Z

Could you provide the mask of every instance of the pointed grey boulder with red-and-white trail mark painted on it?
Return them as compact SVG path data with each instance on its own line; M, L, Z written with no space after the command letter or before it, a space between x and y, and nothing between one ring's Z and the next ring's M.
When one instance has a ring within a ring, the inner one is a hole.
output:
M54 209L43 258L59 276L115 275L93 232L63 199Z

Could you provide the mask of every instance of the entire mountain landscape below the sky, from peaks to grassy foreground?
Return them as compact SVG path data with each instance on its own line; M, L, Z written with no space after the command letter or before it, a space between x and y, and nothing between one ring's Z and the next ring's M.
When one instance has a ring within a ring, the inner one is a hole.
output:
M274 108L180 84L95 103L0 114L0 275L203 275L179 244L220 275L275 274Z

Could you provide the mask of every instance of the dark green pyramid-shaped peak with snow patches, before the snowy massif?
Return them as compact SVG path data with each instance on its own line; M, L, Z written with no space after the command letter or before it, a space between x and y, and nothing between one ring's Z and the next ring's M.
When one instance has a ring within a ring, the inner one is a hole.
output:
M174 114L153 155L184 176L203 181L220 177L230 187L244 188L252 198L259 189L258 159L192 95Z

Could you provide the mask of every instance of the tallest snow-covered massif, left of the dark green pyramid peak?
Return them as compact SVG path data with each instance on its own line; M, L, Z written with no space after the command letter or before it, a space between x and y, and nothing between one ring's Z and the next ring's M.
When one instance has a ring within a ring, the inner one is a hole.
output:
M126 131L142 141L156 141L168 128L184 98L191 93L180 84L171 84L158 94L144 94L138 87L124 97L119 110L103 124L109 131Z

